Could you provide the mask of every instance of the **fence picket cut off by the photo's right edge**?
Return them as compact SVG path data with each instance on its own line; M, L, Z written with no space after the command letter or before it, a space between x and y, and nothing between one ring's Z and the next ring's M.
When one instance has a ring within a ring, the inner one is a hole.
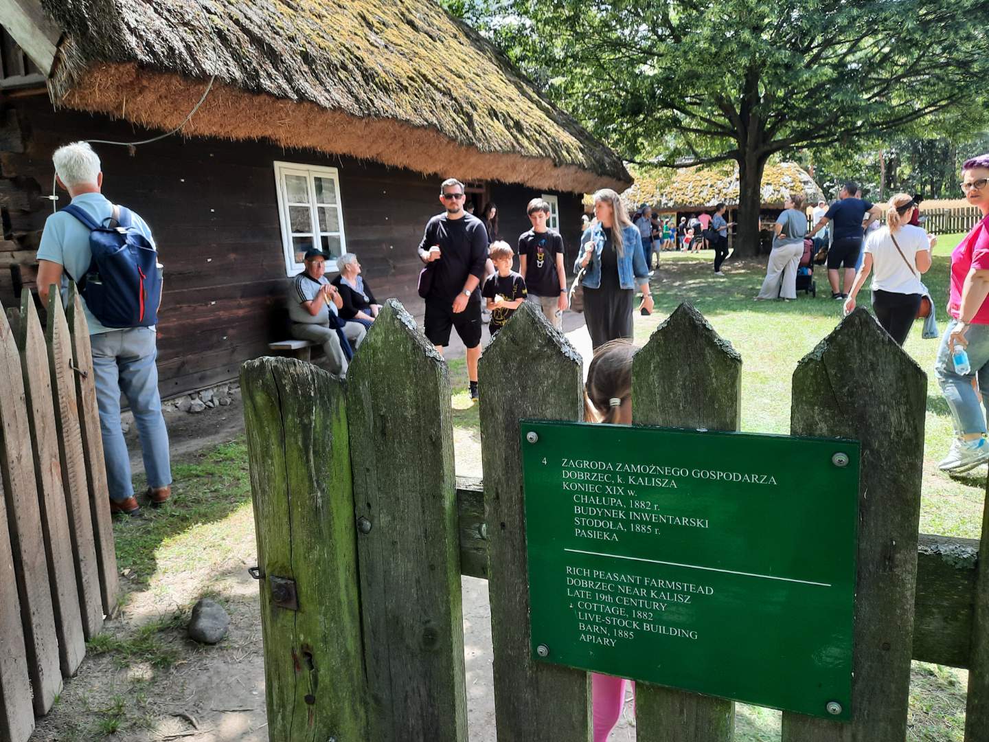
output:
M986 493L979 544L982 554L989 554L989 487ZM968 664L965 742L981 742L989 735L989 559L979 560L977 575Z

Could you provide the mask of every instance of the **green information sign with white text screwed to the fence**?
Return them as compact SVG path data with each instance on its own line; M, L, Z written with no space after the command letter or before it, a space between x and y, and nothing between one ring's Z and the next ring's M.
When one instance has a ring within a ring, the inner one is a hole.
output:
M535 659L852 718L857 442L520 432Z

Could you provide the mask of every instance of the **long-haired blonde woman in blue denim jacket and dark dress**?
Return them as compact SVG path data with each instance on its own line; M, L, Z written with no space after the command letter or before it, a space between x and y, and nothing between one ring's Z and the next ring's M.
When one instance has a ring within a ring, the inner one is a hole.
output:
M610 188L594 194L594 218L581 237L584 250L574 270L585 269L584 318L591 345L597 348L619 337L631 339L636 284L642 292L640 309L646 314L653 311L653 296L642 237Z

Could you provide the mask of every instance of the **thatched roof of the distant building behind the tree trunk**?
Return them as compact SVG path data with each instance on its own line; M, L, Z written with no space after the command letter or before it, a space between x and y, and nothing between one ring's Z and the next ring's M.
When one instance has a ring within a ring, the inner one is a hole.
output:
M718 202L739 202L739 170L734 162L706 167L632 168L635 185L622 194L626 206L658 206L662 211L690 211ZM763 173L763 207L782 209L783 200L799 193L807 204L823 197L814 179L795 162L769 162Z

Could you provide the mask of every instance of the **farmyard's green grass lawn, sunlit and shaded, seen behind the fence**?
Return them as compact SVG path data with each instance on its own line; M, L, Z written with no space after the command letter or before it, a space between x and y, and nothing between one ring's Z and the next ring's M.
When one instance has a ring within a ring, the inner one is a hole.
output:
M960 235L942 237L934 266L925 282L943 312L947 292L950 250ZM711 325L742 354L742 429L787 433L790 415L790 379L799 359L831 332L841 319L840 302L832 301L826 272L818 269L818 298L800 295L796 302L756 303L764 276L764 259L729 261L725 278L711 272L712 253L663 253L662 267L654 278L656 312L636 318L636 342L644 344L650 333L682 301L691 302ZM867 291L860 295L867 305ZM944 317L940 317L944 329ZM981 525L985 469L971 476L951 479L937 469L952 435L950 417L932 368L938 340L921 338L915 325L905 350L928 374L928 408L924 457L921 530L929 533L977 538ZM688 372L684 369L684 372ZM457 440L476 445L479 439L478 407L467 399L463 360L451 363L453 423ZM862 403L867 401L863 400ZM173 501L162 510L150 511L135 521L115 523L121 569L134 572L133 582L150 591L164 591L176 578L223 570L235 556L249 551L253 539L246 447L242 441L200 454L192 463L176 467ZM139 486L139 483L138 483ZM203 544L211 548L204 550ZM237 567L240 569L240 567ZM209 594L213 583L202 580ZM168 588L172 590L172 588ZM180 610L188 601L180 601ZM145 658L155 667L176 661L163 632L171 627L168 616L137 629L133 636L98 639L94 653L119 655L121 662ZM910 700L909 742L961 742L967 674L937 665L914 663ZM779 713L739 705L739 742L779 739Z

